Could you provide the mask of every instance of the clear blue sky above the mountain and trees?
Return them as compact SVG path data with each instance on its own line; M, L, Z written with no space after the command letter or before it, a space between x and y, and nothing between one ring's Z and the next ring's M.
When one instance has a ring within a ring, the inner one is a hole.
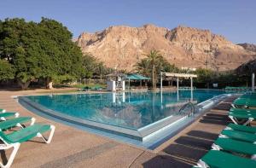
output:
M209 29L234 43L256 43L255 0L0 0L0 19L42 16L61 21L78 37L108 26L151 23Z

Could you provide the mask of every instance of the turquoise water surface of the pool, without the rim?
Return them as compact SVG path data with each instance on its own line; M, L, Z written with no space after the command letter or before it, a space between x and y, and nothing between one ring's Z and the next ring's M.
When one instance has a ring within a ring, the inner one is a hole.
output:
M222 90L180 90L177 92L124 92L26 96L56 113L106 125L138 130L171 115L183 115L179 109L187 102L200 103Z

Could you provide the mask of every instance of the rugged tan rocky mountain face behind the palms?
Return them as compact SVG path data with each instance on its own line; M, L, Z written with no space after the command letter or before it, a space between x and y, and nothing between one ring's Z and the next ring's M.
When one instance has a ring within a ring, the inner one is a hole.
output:
M108 67L132 70L151 49L160 50L178 67L208 67L230 70L254 59L256 52L231 43L208 30L177 26L110 26L102 32L83 32L76 43Z

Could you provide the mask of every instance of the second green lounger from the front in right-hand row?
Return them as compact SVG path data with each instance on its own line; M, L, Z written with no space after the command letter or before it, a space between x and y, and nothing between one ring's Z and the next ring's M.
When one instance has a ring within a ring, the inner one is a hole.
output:
M236 141L230 138L218 138L212 144L213 150L224 150L238 154L246 154L251 159L256 159L256 144Z

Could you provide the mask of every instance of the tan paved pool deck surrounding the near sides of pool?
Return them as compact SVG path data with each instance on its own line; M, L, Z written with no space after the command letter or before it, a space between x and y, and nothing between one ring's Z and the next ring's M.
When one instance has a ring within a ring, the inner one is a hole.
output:
M0 90L0 107L33 116L36 122L56 126L50 144L40 139L21 144L12 167L178 167L195 165L230 122L226 113L236 96L221 101L211 110L154 150L114 142L73 127L55 123L29 112L11 96L38 95L35 90ZM1 151L1 161L9 152Z

